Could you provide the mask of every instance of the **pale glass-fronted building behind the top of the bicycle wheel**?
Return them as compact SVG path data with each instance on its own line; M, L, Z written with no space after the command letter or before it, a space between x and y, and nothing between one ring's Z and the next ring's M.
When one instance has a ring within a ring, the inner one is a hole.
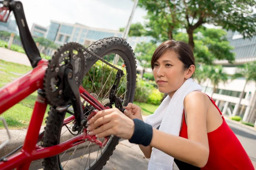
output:
M55 42L55 44L63 45L65 42L78 42L85 47L88 47L93 42L105 37L122 37L123 32L110 29L93 28L81 25L79 23L69 24L61 23L51 20L50 26L47 29L46 38ZM140 42L150 42L153 38L148 36L143 37L127 37L127 42L131 45L132 49L136 48L136 45ZM47 53L52 54L49 50ZM137 67L138 73L143 71L143 68L139 65ZM147 69L147 72L151 72L151 69Z

